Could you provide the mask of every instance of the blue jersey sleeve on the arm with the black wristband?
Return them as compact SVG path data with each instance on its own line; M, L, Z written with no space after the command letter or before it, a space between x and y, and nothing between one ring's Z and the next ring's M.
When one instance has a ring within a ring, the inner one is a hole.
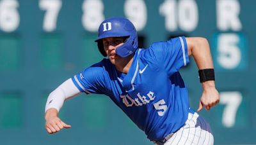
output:
M184 36L154 43L150 49L156 62L163 66L170 76L189 64L188 46Z

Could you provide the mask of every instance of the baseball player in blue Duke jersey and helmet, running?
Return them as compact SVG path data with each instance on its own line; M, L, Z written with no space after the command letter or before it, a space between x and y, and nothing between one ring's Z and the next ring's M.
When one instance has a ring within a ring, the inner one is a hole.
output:
M219 102L207 39L177 37L138 48L134 25L126 18L108 18L100 24L95 42L107 58L50 93L45 106L49 134L70 128L58 112L65 100L84 92L107 95L154 144L213 144L209 124L189 107L179 73L192 55L203 88L197 111Z

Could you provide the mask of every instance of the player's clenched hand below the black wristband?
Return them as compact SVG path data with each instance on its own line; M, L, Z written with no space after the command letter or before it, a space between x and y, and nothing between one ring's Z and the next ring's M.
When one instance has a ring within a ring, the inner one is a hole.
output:
M202 93L202 97L200 98L197 111L201 111L203 107L209 110L211 109L211 107L215 106L216 104L218 104L218 102L220 102L220 95L215 88L214 81L205 81L204 83L202 83L202 86L204 91Z

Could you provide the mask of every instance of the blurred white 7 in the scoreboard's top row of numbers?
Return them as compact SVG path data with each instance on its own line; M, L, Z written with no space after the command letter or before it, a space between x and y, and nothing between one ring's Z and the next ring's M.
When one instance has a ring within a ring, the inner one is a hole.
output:
M40 0L40 9L46 11L43 25L44 31L51 32L56 29L57 17L61 5L61 0Z

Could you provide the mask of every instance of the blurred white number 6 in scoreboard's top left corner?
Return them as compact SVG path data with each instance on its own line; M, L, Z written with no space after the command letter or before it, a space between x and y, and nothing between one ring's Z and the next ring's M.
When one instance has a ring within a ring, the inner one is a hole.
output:
M20 16L17 8L19 3L17 0L0 1L0 29L5 32L12 32L17 29L20 24Z

